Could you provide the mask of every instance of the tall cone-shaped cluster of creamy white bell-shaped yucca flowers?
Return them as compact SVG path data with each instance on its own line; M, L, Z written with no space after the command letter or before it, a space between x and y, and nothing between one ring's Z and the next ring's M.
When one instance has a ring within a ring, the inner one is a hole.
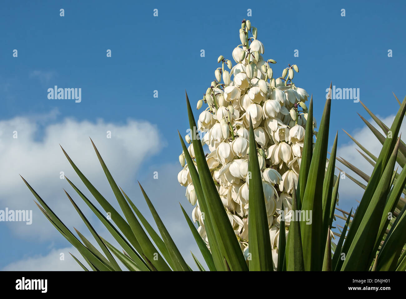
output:
M248 33L253 37L248 37ZM307 92L292 82L296 65L289 65L281 77L273 77L270 64L264 60L263 44L257 39L257 29L242 22L242 44L233 50L237 63L232 66L223 56L218 58L222 67L215 71L216 80L199 100L197 109L208 104L198 120L199 131L205 132L201 140L208 146L206 157L216 182L222 203L244 253L248 253L248 129L250 116L255 140L259 146L258 161L263 178L269 232L274 264L277 261L279 241L279 211L292 210L292 190L297 186L302 156L304 126L307 119L305 102ZM225 70L227 65L228 70ZM222 82L221 82L222 79ZM299 111L299 108L301 110ZM315 127L315 123L313 124ZM191 143L191 136L186 141ZM188 151L194 158L193 145ZM192 205L192 219L199 222L199 233L206 241L204 217L199 208L192 179L185 165L184 153L179 156L183 169L178 181L186 188L186 197ZM285 223L289 229L289 222ZM287 231L285 231L287 233Z

